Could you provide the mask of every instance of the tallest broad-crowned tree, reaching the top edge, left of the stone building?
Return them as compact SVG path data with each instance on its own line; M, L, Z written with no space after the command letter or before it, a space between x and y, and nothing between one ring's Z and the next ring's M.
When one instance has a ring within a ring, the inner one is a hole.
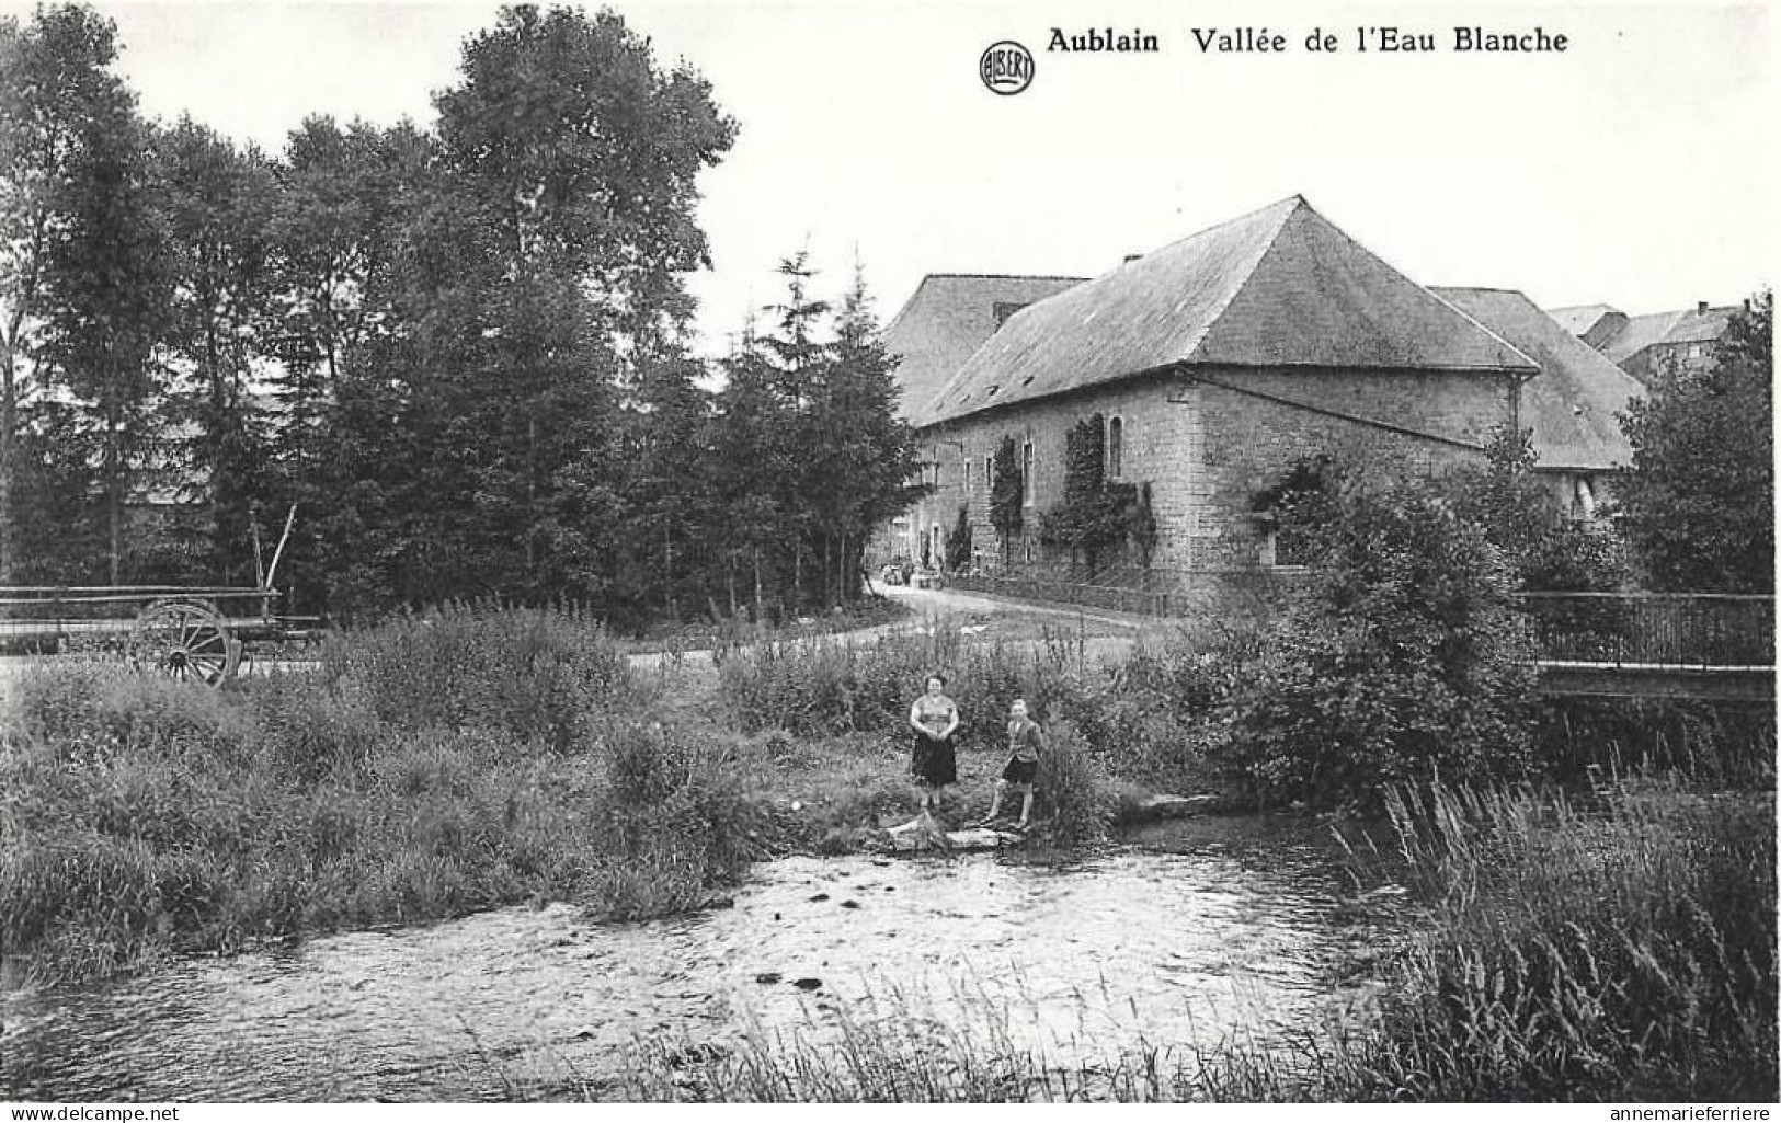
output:
M461 73L376 377L340 388L337 461L365 472L331 537L367 600L616 596L620 406L671 361L705 262L695 176L732 125L609 12L504 9Z

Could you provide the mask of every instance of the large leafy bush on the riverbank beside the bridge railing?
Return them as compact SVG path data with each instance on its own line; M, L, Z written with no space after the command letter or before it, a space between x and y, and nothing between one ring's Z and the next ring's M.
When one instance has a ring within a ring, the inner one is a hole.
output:
M1532 635L1482 530L1427 486L1354 475L1288 518L1320 562L1220 707L1224 760L1263 797L1314 803L1525 774Z

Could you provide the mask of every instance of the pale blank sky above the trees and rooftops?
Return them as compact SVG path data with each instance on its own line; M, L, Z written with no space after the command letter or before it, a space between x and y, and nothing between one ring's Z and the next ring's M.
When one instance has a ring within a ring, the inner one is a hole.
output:
M5 9L9 0L0 0ZM142 109L269 151L305 116L433 121L493 4L107 2ZM1765 5L983 4L614 0L739 125L702 178L712 269L691 278L721 352L807 249L817 290L864 265L882 319L930 272L1097 276L1302 194L1411 279L1519 288L1546 308L1736 303L1774 265L1774 16ZM23 12L21 5L11 5ZM1143 55L1058 53L1090 27ZM1268 28L1279 53L1202 53ZM1435 34L1361 53L1359 27ZM1562 53L1452 48L1455 27L1564 34ZM1313 30L1334 53L1305 50ZM1031 85L990 93L999 39Z

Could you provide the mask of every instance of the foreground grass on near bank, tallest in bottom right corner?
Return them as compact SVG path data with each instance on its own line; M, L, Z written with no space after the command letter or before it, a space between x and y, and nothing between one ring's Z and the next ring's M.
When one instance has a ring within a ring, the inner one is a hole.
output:
M1364 879L1405 879L1414 920L1362 1027L1286 1043L1024 1048L960 995L935 1025L889 1002L839 1023L639 1046L636 1100L1753 1100L1776 1098L1774 803L1614 785L1434 790L1393 801ZM869 1016L867 1016L869 1014ZM1086 1057L1086 1059L1085 1059Z

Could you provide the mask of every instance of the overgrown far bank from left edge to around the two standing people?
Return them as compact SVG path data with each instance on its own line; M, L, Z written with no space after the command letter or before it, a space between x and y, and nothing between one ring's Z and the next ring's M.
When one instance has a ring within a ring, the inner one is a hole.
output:
M639 671L573 610L467 605L223 691L100 655L34 667L0 746L5 975L85 979L541 899L611 918L695 908L753 858L858 849L915 813L908 667L937 650L965 648L930 623ZM830 691L837 660L873 667L873 707L835 712L869 678ZM969 662L994 699L1086 667L1063 639ZM964 747L955 822L988 806L999 723ZM1069 723L1053 744L1040 838L1099 836L1113 785Z

